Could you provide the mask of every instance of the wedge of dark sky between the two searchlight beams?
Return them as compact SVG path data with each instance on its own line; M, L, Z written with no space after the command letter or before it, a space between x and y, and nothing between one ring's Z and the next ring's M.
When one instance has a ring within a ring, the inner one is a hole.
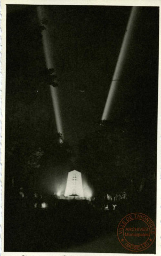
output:
M130 7L103 6L51 11L63 126L71 143L101 119L129 13Z

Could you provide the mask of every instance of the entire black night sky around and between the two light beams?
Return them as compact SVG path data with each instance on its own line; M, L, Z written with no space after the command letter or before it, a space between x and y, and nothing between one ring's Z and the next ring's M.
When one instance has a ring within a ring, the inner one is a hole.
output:
M131 7L46 6L59 78L65 140L99 126ZM57 132L36 6L7 6L6 141L41 145ZM158 90L158 7L140 7L130 50L112 109L116 123L130 122L156 149ZM83 91L83 92L81 92ZM66 167L65 167L66 169Z

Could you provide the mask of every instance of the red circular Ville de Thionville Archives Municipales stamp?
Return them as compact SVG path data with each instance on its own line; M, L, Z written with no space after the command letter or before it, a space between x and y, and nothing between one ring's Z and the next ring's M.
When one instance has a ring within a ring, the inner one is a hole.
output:
M127 250L144 251L155 241L156 227L147 215L131 213L119 222L117 237L120 244Z

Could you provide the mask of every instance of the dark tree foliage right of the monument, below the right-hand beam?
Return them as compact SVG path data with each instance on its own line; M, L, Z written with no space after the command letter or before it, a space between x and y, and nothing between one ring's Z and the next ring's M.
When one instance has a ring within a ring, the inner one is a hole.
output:
M148 166L145 143L146 137L135 134L133 123L106 121L81 141L79 163L86 170L96 194L124 190L128 194L135 193L143 177L152 177L154 156Z

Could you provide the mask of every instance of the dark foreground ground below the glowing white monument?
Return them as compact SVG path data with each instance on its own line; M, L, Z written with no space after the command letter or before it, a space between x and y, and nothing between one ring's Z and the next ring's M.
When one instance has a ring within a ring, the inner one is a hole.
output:
M128 202L104 211L87 201L58 200L41 209L12 201L5 207L4 251L130 253L117 238L119 221L133 212L128 208ZM142 253L155 253L155 244Z

